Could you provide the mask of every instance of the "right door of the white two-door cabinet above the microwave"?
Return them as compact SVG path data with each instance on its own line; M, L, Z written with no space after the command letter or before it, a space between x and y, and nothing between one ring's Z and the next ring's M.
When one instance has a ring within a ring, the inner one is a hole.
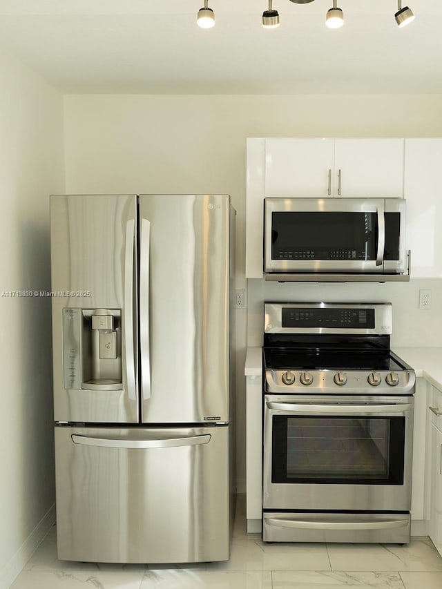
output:
M403 139L336 139L335 197L403 197Z

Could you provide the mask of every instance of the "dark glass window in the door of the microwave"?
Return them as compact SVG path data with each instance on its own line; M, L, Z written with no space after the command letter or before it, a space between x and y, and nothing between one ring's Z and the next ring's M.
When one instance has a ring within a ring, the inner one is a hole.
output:
M376 260L376 213L274 212L271 258Z

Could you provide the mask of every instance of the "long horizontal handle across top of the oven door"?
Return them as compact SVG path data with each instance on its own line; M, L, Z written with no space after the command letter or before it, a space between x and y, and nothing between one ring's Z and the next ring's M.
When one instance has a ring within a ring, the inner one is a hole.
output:
M396 405L350 405L343 403L342 405L313 405L313 404L296 404L296 403L276 403L274 401L267 401L268 409L275 409L276 411L289 411L291 413L298 413L302 415L308 414L338 414L338 415L355 415L355 414L369 414L369 413L405 413L410 411L412 405L409 403L398 403Z

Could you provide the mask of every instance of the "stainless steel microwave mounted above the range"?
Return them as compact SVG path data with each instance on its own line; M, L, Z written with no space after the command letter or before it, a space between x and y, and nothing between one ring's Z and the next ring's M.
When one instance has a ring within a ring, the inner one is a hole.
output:
M403 274L402 198L266 198L267 273Z

